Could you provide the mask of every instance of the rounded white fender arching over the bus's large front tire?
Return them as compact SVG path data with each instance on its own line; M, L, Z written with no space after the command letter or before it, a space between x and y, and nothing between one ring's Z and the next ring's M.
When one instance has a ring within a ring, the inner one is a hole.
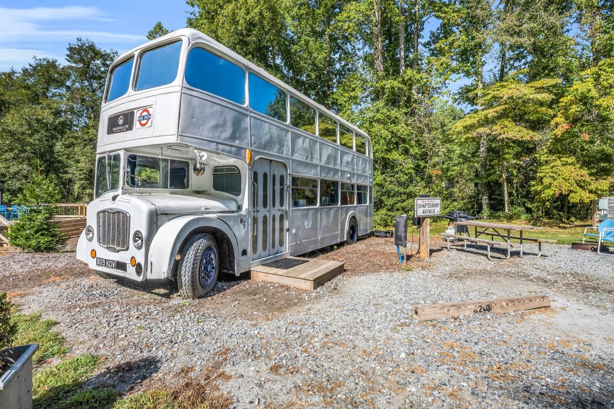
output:
M149 247L149 269L147 278L158 280L171 277L175 257L179 253L182 243L190 233L200 227L213 227L224 232L230 239L236 261L239 260L238 243L235 234L228 224L213 216L179 216L167 221L158 229ZM236 273L236 272L235 272Z

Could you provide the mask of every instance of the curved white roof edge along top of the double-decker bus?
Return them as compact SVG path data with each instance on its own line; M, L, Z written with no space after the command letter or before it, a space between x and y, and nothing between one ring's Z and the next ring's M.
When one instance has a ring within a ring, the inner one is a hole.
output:
M362 131L362 129L359 129L356 125L354 125L354 124L344 120L339 115L336 115L336 113L334 113L331 110L329 110L326 107L324 107L324 105L318 104L317 102L313 101L313 99L311 99L308 96L306 96L305 94L303 94L300 91L297 91L294 88L292 88L292 86L287 85L285 82L279 80L277 77L274 77L273 75L269 74L265 69L260 68L257 65L247 61L247 59L245 59L243 56L233 52L233 50L231 50L230 48L226 47L225 45L220 44L219 42L217 42L216 40L214 40L211 37L207 36L206 34L203 34L202 32L200 32L200 31L198 31L196 29L193 29L193 28L181 28L181 29L178 29L176 31L169 32L165 36L158 37L157 39L153 39L153 40L151 40L149 42L146 42L145 44L139 45L139 47L135 47L135 48L133 48L130 51L122 53L122 55L120 55L117 59L115 59L115 61L114 61L114 63L112 65L115 65L118 61L121 61L122 59L125 59L126 56L128 56L130 54L133 54L133 53L136 53L138 50L141 50L142 48L150 47L151 45L157 44L158 42L164 42L165 40L172 39L172 38L177 38L177 37L186 37L188 39L188 41L190 42L190 44L192 44L193 42L203 42L208 47L210 47L210 48L212 48L214 50L217 50L217 52L221 53L222 55L225 55L228 58L232 59L234 62L243 65L244 67L246 67L250 71L255 72L256 74L258 74L260 77L265 78L269 82L271 82L274 85L278 86L278 88L282 88L283 90L289 92L290 94L293 94L294 96L297 96L300 99L303 99L305 102L308 102L309 105L311 105L314 108L317 108L317 110L319 110L319 112L327 114L328 116L330 116L330 117L334 118L335 120L339 121L339 123L344 124L348 128L351 128L353 131L355 131L355 132L359 133L360 135L367 137L367 139L371 140L370 137L368 136L367 132Z

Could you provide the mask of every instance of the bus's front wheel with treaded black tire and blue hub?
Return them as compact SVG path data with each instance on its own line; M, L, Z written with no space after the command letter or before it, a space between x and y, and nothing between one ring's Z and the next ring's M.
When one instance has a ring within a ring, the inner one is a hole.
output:
M220 256L216 239L211 234L195 234L181 252L177 284L184 299L206 296L217 283Z

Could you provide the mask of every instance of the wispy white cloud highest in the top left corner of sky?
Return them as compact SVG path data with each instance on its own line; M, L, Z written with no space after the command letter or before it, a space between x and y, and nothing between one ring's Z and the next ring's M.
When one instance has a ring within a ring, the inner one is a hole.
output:
M91 31L79 29L52 29L44 23L52 21L75 20L106 20L104 13L97 7L33 7L30 9L8 9L0 7L0 42L10 40L33 41L45 40L74 40L84 37L93 41L126 41L144 40L144 36L135 34L122 34L107 31Z

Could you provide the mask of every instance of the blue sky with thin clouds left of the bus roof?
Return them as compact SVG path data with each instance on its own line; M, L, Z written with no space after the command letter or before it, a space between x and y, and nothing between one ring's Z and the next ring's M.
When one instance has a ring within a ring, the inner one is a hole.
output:
M25 66L34 55L63 61L77 37L123 53L146 42L157 21L184 27L188 10L183 0L0 0L0 71Z

